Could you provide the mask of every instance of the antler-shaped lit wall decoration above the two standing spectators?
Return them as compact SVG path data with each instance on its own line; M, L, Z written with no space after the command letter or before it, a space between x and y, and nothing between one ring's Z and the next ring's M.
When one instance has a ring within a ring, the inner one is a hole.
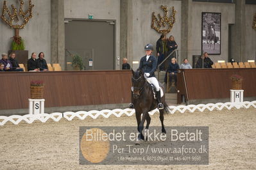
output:
M162 6L162 10L164 10L164 17L162 17L158 13L158 19L155 16L155 12L152 13L152 21L151 21L151 28L155 29L158 33L161 33L163 35L167 35L173 28L173 24L175 24L175 15L176 11L175 8L172 8L172 14L170 17L167 17L168 8L167 6Z

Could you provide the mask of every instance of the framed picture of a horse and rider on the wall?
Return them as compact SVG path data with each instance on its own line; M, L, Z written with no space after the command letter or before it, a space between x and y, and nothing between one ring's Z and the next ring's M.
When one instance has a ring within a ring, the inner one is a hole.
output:
M201 50L208 54L221 54L221 13L202 12Z

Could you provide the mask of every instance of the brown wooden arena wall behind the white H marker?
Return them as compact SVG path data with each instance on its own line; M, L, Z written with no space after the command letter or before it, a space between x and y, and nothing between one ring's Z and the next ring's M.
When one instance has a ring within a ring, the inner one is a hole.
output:
M230 76L234 74L243 77L244 97L256 97L256 68L188 69L178 73L177 103L181 103L181 95L189 100L230 98Z

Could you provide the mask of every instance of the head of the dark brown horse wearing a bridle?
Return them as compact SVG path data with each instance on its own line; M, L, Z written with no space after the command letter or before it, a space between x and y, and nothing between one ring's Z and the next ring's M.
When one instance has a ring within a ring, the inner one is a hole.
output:
M146 79L142 70L137 70L136 72L132 70L132 86L134 98L139 98L139 96L141 95L141 91L144 88L145 81Z

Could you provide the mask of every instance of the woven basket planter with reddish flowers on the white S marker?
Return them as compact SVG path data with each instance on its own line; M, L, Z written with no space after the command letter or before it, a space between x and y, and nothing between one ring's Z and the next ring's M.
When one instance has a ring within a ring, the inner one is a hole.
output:
M40 99L44 96L44 82L43 81L31 81L30 93L32 99Z

